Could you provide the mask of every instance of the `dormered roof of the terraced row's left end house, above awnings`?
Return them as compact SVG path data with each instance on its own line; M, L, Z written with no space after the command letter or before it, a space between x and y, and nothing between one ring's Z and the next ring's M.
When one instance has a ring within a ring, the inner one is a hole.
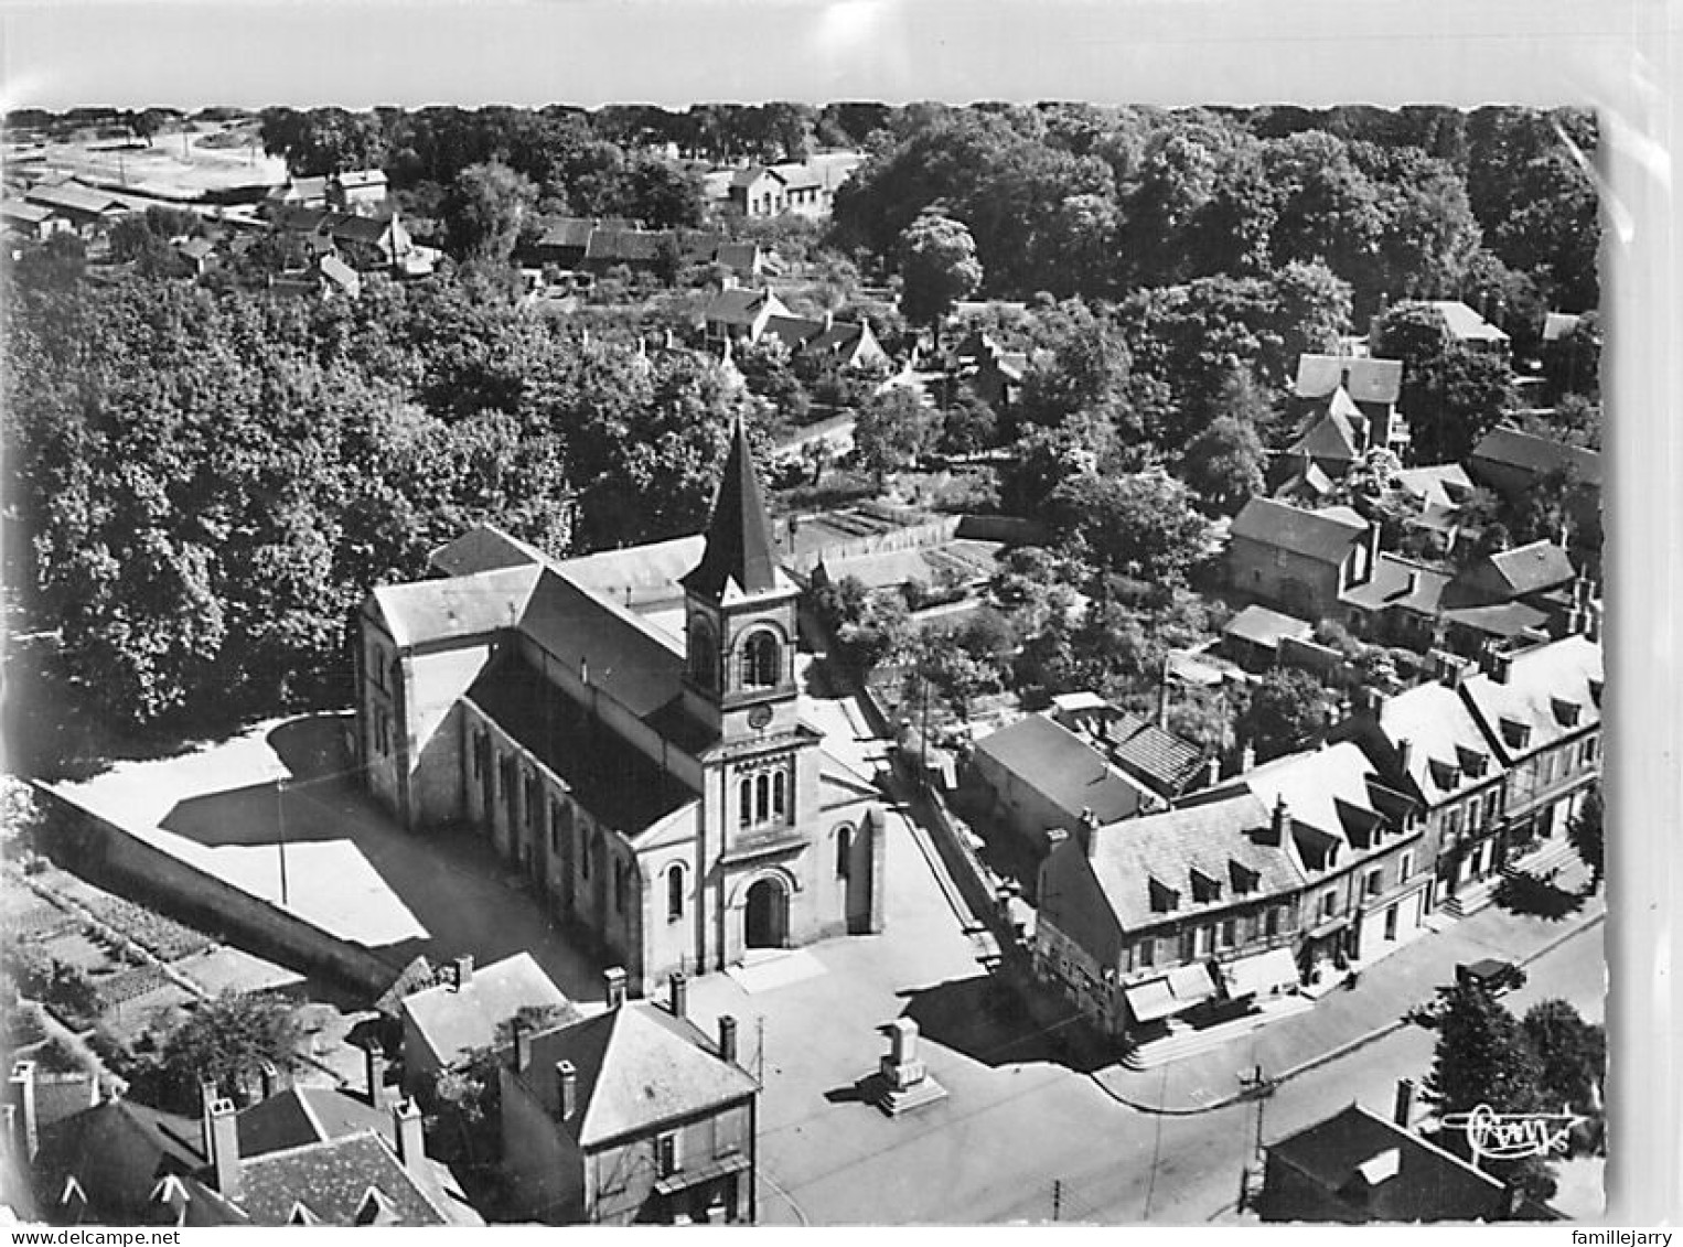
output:
M1271 826L1271 809L1249 793L1099 826L1091 833L1092 877L1123 931L1232 904L1235 865L1249 884L1245 895L1291 892L1303 870L1286 846L1269 843ZM1070 838L1059 852L1084 850ZM1218 884L1218 895L1197 897L1193 872ZM1165 890L1178 894L1171 910L1153 905Z

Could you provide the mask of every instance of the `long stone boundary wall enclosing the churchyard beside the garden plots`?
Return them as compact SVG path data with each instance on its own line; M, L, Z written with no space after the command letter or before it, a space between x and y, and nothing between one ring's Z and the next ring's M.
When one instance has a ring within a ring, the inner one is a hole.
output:
M140 900L155 899L172 914L192 919L195 926L222 934L259 958L320 973L370 998L397 978L401 966L362 944L330 936L261 897L170 857L35 781L30 781L30 788L52 816L52 830L42 850L72 873L86 873L89 882L103 887L121 885Z

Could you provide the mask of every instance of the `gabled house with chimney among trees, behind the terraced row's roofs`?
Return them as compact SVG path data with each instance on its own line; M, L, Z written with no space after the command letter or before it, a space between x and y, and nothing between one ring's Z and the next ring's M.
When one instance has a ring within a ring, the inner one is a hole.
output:
M1252 498L1229 528L1225 576L1237 594L1319 619L1372 579L1377 557L1378 528L1348 507L1309 512Z

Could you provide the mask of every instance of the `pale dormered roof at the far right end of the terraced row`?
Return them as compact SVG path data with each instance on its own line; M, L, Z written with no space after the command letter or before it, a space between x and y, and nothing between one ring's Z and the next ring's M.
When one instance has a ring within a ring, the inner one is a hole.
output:
M1597 727L1604 678L1601 646L1585 636L1564 636L1511 655L1506 680L1474 675L1461 690L1486 739L1513 762ZM1505 729L1505 722L1513 727Z

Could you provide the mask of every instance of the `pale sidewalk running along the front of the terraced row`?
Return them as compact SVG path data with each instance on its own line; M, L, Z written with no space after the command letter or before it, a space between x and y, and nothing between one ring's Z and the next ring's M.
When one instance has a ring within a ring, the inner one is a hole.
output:
M1582 887L1587 877L1574 860L1562 870L1560 882ZM1402 1020L1404 1010L1452 983L1456 964L1489 956L1521 964L1533 961L1599 924L1606 910L1601 894L1557 922L1491 905L1399 949L1362 971L1353 990L1330 993L1308 1013L1281 1018L1171 1065L1131 1070L1118 1064L1092 1077L1112 1099L1144 1112L1183 1116L1225 1107L1239 1099L1234 1082L1239 1070L1259 1064L1274 1079L1296 1077L1410 1025Z

